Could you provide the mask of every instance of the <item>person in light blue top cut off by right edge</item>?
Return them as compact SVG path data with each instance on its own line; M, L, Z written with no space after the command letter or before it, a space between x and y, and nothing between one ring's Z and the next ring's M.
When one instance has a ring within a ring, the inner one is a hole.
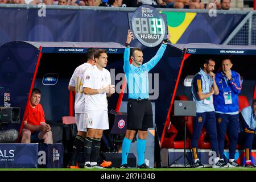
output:
M256 98L253 101L253 105L241 110L239 119L242 124L242 134L245 135L245 167L256 167L251 162L251 147L256 134Z

